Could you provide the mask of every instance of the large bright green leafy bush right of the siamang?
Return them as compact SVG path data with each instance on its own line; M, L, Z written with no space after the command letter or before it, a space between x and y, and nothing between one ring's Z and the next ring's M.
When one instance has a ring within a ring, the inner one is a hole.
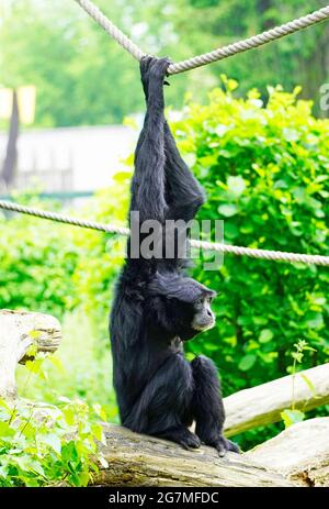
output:
M226 93L188 103L175 124L207 191L198 218L224 219L228 244L328 254L329 122L297 100L298 88L269 88L263 107L257 90L235 99L237 82L223 80ZM226 255L218 272L198 263L194 276L218 291L217 325L188 347L215 359L226 394L291 372L299 340L310 345L305 368L328 361L326 269Z

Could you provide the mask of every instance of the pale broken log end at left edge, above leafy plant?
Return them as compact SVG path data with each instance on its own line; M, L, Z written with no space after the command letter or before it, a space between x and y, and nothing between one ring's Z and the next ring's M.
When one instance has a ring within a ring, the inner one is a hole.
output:
M0 397L16 396L15 369L32 344L55 352L60 339L60 324L49 314L0 310Z

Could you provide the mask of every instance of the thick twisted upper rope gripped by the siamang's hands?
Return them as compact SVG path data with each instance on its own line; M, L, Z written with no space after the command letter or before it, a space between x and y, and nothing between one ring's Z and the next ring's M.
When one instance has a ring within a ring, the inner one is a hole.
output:
M107 32L111 37L118 42L128 53L131 53L134 58L140 60L140 58L146 55L133 41L127 37L121 30L118 30L106 16L103 14L98 7L95 7L90 0L75 0L86 12L97 22L102 29ZM192 58L189 58L183 62L178 62L177 64L171 64L168 67L168 74L174 75L178 73L183 73L185 70L194 69L195 67L201 67L212 62L222 60L229 56L236 55L238 53L246 52L248 49L262 46L263 44L270 43L276 38L284 37L285 35L293 34L299 30L311 26L316 23L320 23L329 18L329 5L319 9L318 11L311 12L303 18L290 21L284 23L275 29L263 32L259 35L253 35L252 37L246 38L245 41L238 41L228 46L219 47L213 52L205 53L203 55L197 55Z

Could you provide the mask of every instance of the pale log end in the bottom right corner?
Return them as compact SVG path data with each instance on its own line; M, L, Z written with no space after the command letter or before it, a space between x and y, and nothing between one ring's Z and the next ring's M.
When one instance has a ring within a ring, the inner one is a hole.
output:
M300 486L329 487L329 417L298 422L245 457Z

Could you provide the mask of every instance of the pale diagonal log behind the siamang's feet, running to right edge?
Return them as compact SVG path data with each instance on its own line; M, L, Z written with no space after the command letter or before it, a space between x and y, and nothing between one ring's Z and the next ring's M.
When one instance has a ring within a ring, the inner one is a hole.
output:
M225 434L232 436L281 420L292 406L293 375L240 390L224 399ZM308 411L329 403L329 364L299 372L294 381L295 408Z

